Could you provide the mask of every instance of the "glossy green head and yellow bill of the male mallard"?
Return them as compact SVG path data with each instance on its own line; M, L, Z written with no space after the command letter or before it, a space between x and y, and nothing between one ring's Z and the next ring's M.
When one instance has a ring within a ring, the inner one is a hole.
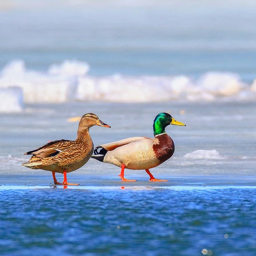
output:
M172 116L168 113L159 113L156 116L153 124L154 135L156 136L158 134L165 133L165 127L169 124L186 126L186 124L172 118Z

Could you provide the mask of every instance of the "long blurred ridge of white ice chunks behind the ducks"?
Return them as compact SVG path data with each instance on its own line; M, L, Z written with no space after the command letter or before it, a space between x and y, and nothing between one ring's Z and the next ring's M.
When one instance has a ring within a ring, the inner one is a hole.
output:
M69 100L108 102L249 101L256 98L256 82L245 86L232 73L208 72L194 81L188 76L88 76L86 62L65 60L48 72L27 70L22 60L9 62L0 73L0 88L19 86L26 103Z

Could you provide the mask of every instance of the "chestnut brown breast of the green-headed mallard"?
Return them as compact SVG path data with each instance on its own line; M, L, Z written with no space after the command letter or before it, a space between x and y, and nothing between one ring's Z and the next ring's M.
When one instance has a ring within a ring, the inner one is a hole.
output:
M158 135L156 138L159 140L159 143L153 145L153 150L157 159L163 163L173 155L174 143L167 133Z

